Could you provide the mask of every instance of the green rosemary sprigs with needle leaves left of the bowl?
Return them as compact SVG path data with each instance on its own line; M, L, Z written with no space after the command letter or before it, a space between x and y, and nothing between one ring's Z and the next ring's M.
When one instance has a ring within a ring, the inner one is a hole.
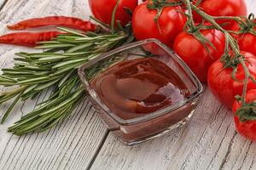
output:
M18 86L13 91L0 94L0 104L15 98L3 115L2 123L19 100L32 99L48 88L54 89L49 99L39 104L35 111L21 117L19 122L9 127L11 133L22 135L32 131L42 132L69 116L86 95L77 73L79 66L132 39L125 31L84 34L67 28L59 29L64 33L55 40L39 43L37 48L46 51L18 53L15 66L2 70L0 85ZM113 62L109 61L107 64L111 65ZM100 71L99 68L92 69L90 78Z

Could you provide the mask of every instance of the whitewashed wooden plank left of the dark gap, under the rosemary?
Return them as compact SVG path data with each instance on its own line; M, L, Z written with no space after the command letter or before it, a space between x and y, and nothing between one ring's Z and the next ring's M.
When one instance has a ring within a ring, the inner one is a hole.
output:
M47 15L67 15L88 19L88 3L83 0L11 0L0 11L0 34L7 33L5 26L18 20ZM19 51L32 51L0 44L0 68L13 65ZM3 91L3 87L0 88ZM46 133L22 137L7 133L7 128L21 114L32 111L44 99L20 103L8 122L0 126L0 169L84 169L96 155L102 140L108 134L85 99L73 116ZM8 105L0 107L1 114Z

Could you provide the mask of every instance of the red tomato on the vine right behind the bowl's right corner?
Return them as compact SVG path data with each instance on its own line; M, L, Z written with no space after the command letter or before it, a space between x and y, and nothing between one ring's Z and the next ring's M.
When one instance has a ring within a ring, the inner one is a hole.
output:
M212 29L201 33L214 45L207 44L207 49L193 35L182 32L174 42L174 51L179 55L201 82L207 82L207 71L214 61L224 54L225 36L221 31Z

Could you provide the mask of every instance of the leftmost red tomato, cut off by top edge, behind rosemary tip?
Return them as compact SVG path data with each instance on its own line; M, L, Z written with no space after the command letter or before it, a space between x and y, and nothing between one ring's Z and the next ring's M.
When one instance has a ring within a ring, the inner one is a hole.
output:
M89 0L90 10L96 19L110 25L112 20L113 8L118 0ZM131 21L131 16L124 8L133 11L137 7L138 0L120 0L115 14L115 20L120 20L122 26Z

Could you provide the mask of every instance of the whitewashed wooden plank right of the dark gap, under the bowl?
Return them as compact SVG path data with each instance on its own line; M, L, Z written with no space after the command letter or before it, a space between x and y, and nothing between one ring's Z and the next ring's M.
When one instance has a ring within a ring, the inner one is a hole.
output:
M247 0L256 13L256 1ZM256 169L256 144L236 133L231 111L219 105L209 90L186 127L160 139L125 147L109 135L91 169Z

